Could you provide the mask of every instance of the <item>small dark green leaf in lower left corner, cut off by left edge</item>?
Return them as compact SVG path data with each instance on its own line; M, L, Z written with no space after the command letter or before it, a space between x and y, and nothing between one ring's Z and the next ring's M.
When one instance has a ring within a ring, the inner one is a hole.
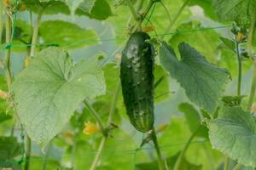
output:
M0 161L12 160L21 155L21 144L15 137L0 137Z

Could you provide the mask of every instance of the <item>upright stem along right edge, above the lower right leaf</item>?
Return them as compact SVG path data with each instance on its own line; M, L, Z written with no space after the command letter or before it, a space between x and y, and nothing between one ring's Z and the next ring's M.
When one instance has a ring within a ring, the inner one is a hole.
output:
M251 26L247 38L247 44L248 44L248 54L253 59L253 35L255 31L255 23L256 23L256 8L253 11L253 16L251 20ZM247 104L247 110L250 111L251 107L253 105L253 99L255 94L255 88L256 88L256 60L253 59L253 82L251 85L251 91L249 95L249 100Z

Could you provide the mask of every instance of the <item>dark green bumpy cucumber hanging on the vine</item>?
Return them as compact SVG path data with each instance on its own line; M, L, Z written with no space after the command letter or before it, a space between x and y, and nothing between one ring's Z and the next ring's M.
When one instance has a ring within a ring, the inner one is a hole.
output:
M145 133L154 126L154 47L145 32L135 32L122 53L120 79L131 124Z

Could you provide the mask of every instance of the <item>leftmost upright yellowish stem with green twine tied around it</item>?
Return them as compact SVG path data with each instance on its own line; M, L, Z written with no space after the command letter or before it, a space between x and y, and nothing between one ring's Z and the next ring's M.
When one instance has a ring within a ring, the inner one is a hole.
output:
M12 30L12 24L11 24L11 18L8 13L8 9L6 11L6 21L5 21L5 42L6 42L6 52L5 52L5 70L6 70L6 82L8 89L10 91L11 83L12 83L12 74L10 70L10 58L11 58L11 30Z

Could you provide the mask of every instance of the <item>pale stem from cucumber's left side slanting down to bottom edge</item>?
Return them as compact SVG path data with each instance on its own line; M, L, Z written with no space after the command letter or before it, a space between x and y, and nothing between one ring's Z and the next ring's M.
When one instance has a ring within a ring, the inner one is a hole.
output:
M109 115L108 115L108 125L112 122L112 119L113 119L113 114L114 114L116 102L118 100L120 88L121 88L121 84L119 82L118 87L115 91L115 94L113 95L112 103L111 103L111 106L110 106ZM95 156L95 158L94 158L94 160L93 160L93 162L90 166L90 170L95 170L96 169L97 163L100 160L100 157L102 155L102 150L104 149L104 146L106 144L107 139L108 139L108 135L103 135L102 141L101 141L101 144L99 145L96 156Z

